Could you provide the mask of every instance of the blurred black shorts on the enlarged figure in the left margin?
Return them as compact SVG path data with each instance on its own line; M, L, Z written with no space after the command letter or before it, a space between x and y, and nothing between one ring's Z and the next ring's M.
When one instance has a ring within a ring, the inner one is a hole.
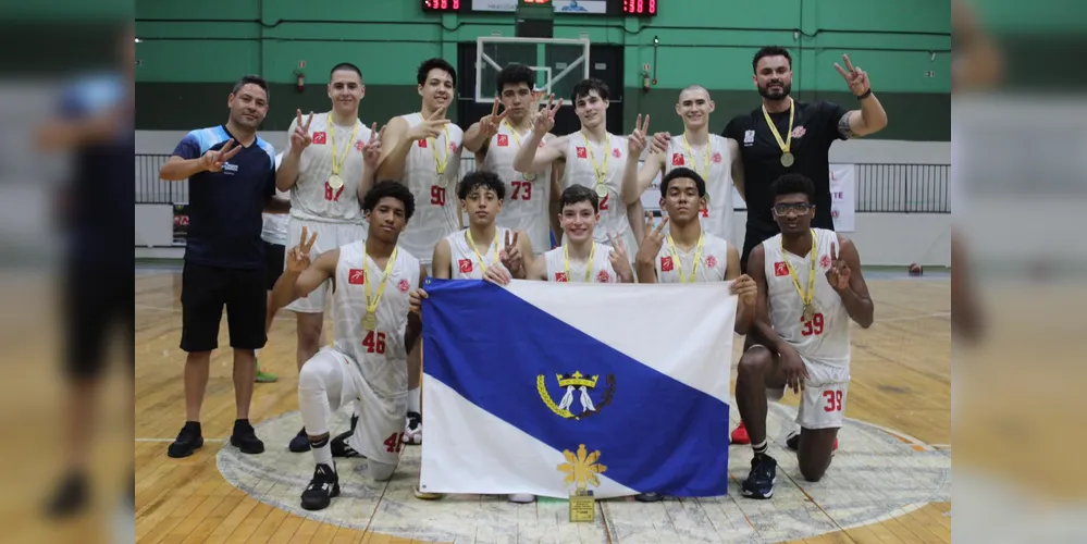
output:
M97 378L110 338L124 338L133 372L136 311L128 306L133 269L73 261L64 273L64 367L74 380ZM114 336L115 334L115 336Z

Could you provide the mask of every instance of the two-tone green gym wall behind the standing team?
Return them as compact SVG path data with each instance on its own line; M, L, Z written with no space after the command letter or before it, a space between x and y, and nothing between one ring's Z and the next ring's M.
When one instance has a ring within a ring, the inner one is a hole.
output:
M137 127L220 122L230 82L258 73L277 84L265 129L282 129L295 108L328 108L323 83L343 60L362 69L366 111L385 113L365 116L387 119L418 108L415 69L421 60L440 55L456 65L458 44L515 34L511 14L423 15L419 3L137 0ZM890 125L878 137L950 139L947 0L664 0L660 10L649 20L556 15L556 38L586 34L594 44L622 47L627 126L613 132L626 132L638 113L654 115L660 123L654 129L678 128L676 96L693 83L711 89L715 129L724 127L731 115L757 106L751 58L776 44L793 54L799 98L854 102L833 69L848 52L888 110ZM299 61L311 85L304 92L294 89ZM657 78L647 92L641 89L643 64Z

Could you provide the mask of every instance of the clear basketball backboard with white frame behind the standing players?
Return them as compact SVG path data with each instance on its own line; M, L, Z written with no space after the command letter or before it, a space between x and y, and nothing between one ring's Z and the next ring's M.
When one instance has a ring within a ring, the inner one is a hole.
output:
M536 72L536 88L566 98L578 82L589 77L589 40L559 38L479 37L475 40L475 101L493 103L495 77L509 64L524 64Z

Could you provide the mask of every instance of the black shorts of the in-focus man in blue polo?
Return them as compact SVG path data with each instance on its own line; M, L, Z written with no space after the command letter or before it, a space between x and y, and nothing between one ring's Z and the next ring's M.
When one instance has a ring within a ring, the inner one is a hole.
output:
M231 347L260 349L268 342L264 269L231 269L185 263L182 272L182 342L188 353L219 347L219 324L226 307Z

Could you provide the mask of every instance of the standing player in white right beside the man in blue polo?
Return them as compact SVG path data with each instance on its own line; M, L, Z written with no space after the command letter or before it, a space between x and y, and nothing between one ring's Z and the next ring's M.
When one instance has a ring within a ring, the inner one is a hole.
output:
M366 237L359 200L372 185L381 153L381 141L358 116L365 94L359 69L349 63L334 66L328 94L331 111L310 113L306 121L301 111L295 112L287 129L291 148L275 174L276 188L291 191L287 238L298 239L302 227L318 234L314 258ZM287 306L297 319L299 369L321 346L329 289L330 285L322 285ZM288 448L295 453L309 449L305 429Z

